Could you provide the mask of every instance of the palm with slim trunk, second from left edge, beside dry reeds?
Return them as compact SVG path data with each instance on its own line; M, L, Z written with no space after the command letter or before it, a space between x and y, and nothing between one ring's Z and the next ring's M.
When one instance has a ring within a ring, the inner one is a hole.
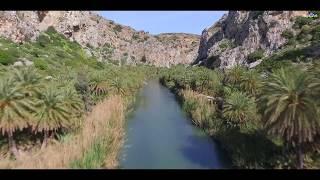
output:
M71 113L64 101L61 90L55 86L47 87L36 102L37 111L34 114L33 128L37 132L44 133L41 148L47 145L50 131L55 131L62 127L68 127Z

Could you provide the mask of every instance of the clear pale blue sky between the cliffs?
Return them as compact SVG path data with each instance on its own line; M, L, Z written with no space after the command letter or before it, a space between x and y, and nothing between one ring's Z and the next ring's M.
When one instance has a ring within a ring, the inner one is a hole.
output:
M201 34L226 11L100 11L106 19L150 34Z

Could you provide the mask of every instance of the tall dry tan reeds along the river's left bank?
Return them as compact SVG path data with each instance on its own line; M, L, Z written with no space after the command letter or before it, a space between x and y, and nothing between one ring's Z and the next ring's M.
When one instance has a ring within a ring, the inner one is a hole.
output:
M66 142L49 145L33 155L18 160L1 160L0 168L60 169L82 158L99 139L107 139L104 167L118 166L118 153L123 144L125 105L120 96L112 96L99 103L85 118L79 133L71 135Z

